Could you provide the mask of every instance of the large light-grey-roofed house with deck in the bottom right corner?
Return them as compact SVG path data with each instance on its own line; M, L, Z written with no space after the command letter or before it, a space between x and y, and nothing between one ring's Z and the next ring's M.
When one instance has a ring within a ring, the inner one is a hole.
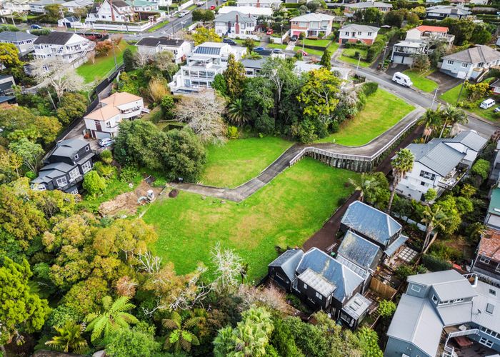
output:
M384 357L500 352L499 288L454 270L409 276L407 281L387 331Z

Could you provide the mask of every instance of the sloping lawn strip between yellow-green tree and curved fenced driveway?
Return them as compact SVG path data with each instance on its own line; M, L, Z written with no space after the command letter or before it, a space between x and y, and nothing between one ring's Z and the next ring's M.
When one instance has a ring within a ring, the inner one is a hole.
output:
M353 119L347 119L339 131L320 139L318 142L359 146L375 139L394 126L414 106L407 104L394 94L378 89L366 99L366 106Z

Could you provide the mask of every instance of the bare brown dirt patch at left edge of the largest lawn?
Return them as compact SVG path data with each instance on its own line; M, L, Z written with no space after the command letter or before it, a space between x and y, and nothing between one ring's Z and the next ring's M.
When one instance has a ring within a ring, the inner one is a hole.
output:
M102 216L114 216L118 213L134 215L137 212L137 207L140 206L139 203L137 203L137 199L141 196L146 196L148 190L153 190L154 199L157 199L163 188L153 187L143 180L134 191L121 193L121 195L116 196L111 201L101 203L101 206L99 206L99 213L101 213Z

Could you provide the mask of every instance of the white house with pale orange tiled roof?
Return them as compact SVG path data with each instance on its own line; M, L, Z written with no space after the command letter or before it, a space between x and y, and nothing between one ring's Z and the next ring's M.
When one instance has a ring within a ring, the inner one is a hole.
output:
M84 116L85 127L93 138L112 138L124 119L133 120L146 111L140 96L121 92L99 102L99 108Z

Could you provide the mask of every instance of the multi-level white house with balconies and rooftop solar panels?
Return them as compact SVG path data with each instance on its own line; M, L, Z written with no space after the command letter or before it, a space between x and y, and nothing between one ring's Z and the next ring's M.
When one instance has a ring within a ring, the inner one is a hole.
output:
M200 89L211 88L216 74L222 74L227 68L230 54L236 60L246 53L244 47L230 46L221 42L205 42L194 48L189 54L186 66L174 75L169 83L175 94L194 94Z

